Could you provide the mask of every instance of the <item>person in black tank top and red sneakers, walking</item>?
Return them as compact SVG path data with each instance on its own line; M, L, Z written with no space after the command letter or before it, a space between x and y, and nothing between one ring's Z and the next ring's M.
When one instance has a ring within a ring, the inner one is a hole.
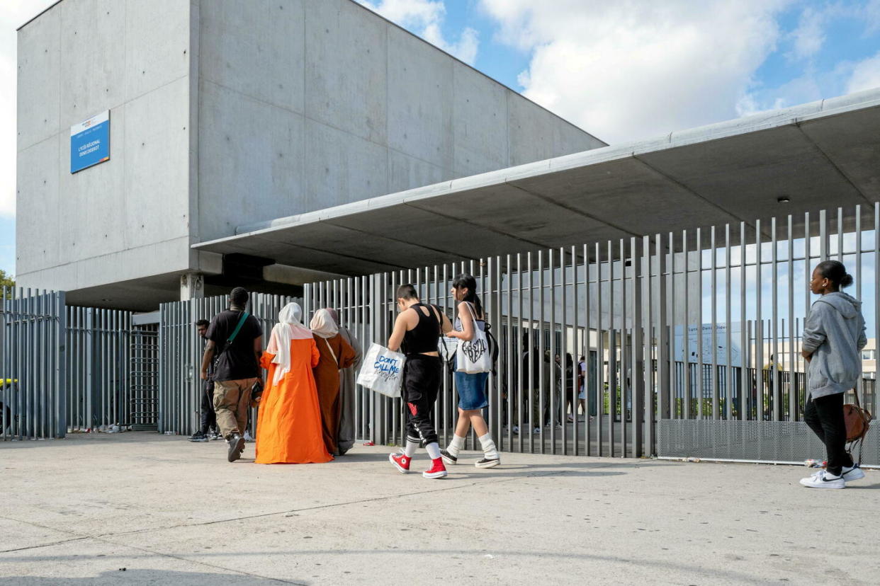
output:
M407 417L407 445L400 453L388 454L388 459L401 473L408 473L421 442L431 459L431 466L422 476L443 478L446 467L440 456L431 409L440 389L443 368L437 343L440 336L451 331L452 324L436 306L422 303L412 285L398 287L396 299L400 315L394 321L388 349L397 351L402 345L407 357L400 389Z

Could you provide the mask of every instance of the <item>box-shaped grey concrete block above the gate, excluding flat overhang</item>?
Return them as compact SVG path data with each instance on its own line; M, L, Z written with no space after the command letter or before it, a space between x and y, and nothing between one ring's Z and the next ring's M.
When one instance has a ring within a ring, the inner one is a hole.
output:
M604 145L351 0L63 0L18 60L17 278L78 303L177 299L243 224ZM110 161L70 174L104 110Z

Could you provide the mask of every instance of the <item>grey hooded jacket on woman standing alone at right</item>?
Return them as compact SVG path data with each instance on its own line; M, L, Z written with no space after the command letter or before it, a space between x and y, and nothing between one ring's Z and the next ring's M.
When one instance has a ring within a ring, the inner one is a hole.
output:
M803 329L803 350L810 359L813 398L844 393L862 376L859 354L867 344L862 302L847 293L827 293L810 307Z

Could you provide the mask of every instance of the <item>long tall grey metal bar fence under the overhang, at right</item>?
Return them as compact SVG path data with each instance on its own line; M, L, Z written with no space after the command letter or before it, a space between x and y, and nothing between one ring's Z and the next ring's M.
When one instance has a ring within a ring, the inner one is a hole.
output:
M750 434L798 430L803 445L781 456L815 456L801 423L808 377L799 351L810 271L827 258L847 264L876 341L878 232L880 205L838 208L326 281L305 287L305 307L337 307L364 344L384 344L397 286L413 283L452 317L451 279L473 273L501 344L486 415L504 450L756 459ZM542 359L524 361L530 349ZM590 367L579 403L581 356ZM876 412L875 373L865 365L859 392ZM402 442L400 400L362 389L357 404L363 437ZM456 404L447 369L435 409L441 441ZM680 423L694 421L707 422L700 429L715 430L717 441ZM734 422L748 433L733 434ZM872 430L866 449L876 441ZM866 457L880 463L872 449Z

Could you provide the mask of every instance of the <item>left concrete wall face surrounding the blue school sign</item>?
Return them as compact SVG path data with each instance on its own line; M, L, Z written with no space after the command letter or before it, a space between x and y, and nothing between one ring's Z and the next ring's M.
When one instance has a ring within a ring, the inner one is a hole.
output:
M187 269L190 6L66 0L18 32L17 277L75 290ZM110 161L70 126L110 111Z

